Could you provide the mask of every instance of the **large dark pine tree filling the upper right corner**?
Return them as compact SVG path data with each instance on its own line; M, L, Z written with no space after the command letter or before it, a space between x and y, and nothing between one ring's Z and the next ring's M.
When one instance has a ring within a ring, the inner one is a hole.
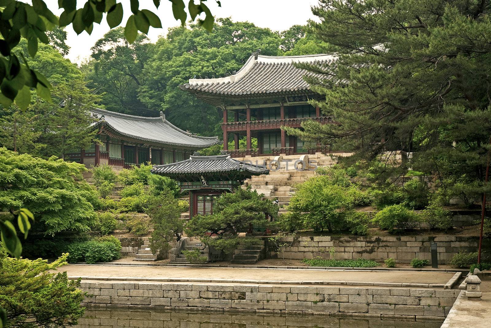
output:
M307 78L325 96L313 104L338 124L307 122L287 132L358 158L415 151L409 165L435 176L443 198L461 177L462 195L482 193L491 135L489 10L489 1L320 0L313 29L337 59L302 67L321 73Z

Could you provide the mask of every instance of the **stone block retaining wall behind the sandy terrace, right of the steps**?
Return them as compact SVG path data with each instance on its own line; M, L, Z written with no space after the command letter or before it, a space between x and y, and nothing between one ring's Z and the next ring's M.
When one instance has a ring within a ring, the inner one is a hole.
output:
M284 237L289 246L275 252L269 243L267 257L292 259L320 256L328 259L334 248L335 259L359 257L383 261L389 257L399 263L409 263L413 258L431 260L430 243L437 243L438 263L450 263L452 256L460 251L476 252L479 237L466 236L341 236L341 237Z

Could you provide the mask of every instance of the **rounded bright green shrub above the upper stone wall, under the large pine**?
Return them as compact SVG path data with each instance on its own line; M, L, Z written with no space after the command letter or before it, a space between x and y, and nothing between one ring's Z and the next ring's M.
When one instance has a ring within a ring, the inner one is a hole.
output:
M372 223L382 229L394 231L395 229L413 229L419 225L418 215L403 205L387 206L378 212Z

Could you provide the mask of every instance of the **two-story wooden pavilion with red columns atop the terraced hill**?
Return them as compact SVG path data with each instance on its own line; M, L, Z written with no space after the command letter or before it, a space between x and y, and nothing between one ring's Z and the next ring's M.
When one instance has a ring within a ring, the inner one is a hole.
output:
M180 86L199 99L223 110L223 149L233 157L263 154L302 154L321 151L326 146L307 149L295 136L286 135L281 126L300 127L305 120L333 123L332 117L321 116L319 107L308 103L320 99L303 76L313 73L294 63L326 63L334 59L327 54L303 56L264 56L252 53L246 64L234 75L219 78L192 78ZM228 150L229 134L234 150ZM239 150L239 138L246 136L245 150ZM251 139L258 148L252 149Z

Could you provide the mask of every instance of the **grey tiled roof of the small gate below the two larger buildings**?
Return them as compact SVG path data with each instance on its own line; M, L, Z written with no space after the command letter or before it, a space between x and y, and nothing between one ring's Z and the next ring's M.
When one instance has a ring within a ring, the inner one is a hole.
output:
M165 165L156 165L152 169L152 173L164 176L201 175L227 172L240 172L249 176L260 176L262 174L268 174L270 171L266 166L239 161L231 158L230 155L191 156L187 160Z

